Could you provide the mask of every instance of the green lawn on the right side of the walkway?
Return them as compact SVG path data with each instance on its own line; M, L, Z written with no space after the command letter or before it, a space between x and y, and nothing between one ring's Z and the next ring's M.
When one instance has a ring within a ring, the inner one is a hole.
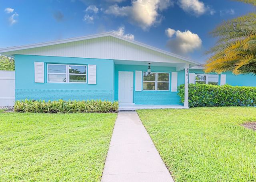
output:
M256 108L137 112L175 182L256 181Z

